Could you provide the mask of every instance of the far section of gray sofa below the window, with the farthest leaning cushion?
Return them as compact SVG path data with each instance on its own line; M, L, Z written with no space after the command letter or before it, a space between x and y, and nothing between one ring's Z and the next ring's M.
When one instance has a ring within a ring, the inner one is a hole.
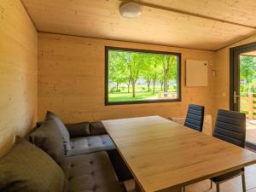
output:
M64 152L67 156L90 154L115 148L101 122L64 125L55 113L47 112L45 120L49 119L54 120L57 128L61 131ZM44 124L44 122L42 123Z

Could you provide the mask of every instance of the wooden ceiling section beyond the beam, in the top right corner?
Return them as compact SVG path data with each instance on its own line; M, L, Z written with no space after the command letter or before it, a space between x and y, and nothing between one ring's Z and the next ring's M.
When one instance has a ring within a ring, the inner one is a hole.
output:
M166 8L183 10L198 15L211 16L219 20L228 20L247 26L256 26L256 5L253 0L200 0L191 3L191 0L143 0L144 3L154 3Z

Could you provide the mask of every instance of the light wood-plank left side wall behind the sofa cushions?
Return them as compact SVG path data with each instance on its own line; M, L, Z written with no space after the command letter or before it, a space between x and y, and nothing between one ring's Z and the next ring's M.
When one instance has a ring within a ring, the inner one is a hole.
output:
M0 1L0 156L38 115L38 32L19 0Z

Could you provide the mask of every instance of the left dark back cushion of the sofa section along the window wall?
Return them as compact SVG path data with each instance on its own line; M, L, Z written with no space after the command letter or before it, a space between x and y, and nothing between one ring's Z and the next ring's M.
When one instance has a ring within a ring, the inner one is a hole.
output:
M90 136L90 123L81 122L75 124L65 124L70 137L87 137Z

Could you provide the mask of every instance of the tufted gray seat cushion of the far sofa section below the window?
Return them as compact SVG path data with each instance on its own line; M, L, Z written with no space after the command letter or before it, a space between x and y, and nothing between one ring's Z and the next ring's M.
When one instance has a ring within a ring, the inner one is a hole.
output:
M96 151L111 150L115 148L108 135L77 137L70 140L71 149L67 155L90 154Z

